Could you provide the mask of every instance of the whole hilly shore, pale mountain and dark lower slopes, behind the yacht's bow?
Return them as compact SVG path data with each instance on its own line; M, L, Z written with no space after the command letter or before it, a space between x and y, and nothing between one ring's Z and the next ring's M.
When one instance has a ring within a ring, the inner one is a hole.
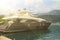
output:
M39 13L37 17L46 19L51 22L59 22L60 23L60 10L52 10L48 13Z

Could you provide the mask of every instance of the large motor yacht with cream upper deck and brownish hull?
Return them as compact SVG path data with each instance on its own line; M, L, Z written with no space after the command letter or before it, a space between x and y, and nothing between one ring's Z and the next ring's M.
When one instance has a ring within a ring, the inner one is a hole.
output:
M32 15L26 9L20 10L18 15L4 17L4 25L0 25L0 32L19 32L28 30L46 30L51 22Z

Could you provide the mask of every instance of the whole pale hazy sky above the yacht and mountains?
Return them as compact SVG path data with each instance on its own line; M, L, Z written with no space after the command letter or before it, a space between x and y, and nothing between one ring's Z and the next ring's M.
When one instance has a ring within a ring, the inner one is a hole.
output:
M45 13L55 9L59 10L60 0L0 0L0 14L16 13L22 8Z

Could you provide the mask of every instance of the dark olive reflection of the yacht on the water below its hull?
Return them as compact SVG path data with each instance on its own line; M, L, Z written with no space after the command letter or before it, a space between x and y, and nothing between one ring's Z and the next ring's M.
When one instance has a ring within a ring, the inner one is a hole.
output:
M0 33L0 35L7 36L11 39L16 40L37 40L43 38L44 33L49 32L48 30L36 30L18 33Z

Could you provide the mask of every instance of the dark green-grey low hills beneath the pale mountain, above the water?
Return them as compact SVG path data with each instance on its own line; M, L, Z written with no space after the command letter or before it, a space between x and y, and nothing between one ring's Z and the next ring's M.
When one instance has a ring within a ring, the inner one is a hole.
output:
M39 17L51 22L60 22L60 15L40 15Z

